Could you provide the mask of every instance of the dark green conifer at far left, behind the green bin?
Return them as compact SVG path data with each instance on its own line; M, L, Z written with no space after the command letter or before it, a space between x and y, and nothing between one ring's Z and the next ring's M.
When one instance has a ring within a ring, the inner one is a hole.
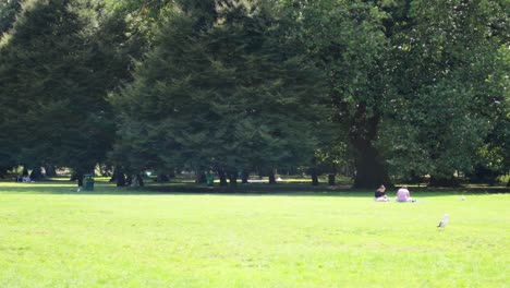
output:
M88 1L32 1L0 48L0 95L10 107L2 124L17 144L11 156L70 167L78 182L111 145L106 97L127 73L125 25L99 12Z

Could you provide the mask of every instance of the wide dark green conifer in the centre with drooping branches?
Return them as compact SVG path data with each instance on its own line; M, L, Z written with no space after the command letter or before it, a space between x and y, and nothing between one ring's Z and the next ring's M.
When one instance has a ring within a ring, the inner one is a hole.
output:
M241 170L311 157L321 73L286 40L284 21L269 2L186 2L114 101L131 165L215 168L234 185Z

